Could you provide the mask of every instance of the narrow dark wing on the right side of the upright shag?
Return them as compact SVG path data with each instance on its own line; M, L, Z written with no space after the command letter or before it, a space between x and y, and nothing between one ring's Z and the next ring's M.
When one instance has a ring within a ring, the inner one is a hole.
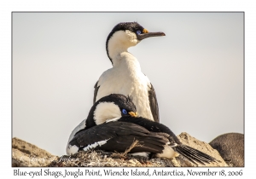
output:
M151 109L152 116L154 118L155 122L160 122L159 118L159 109L158 109L158 103L156 100L156 95L154 91L154 87L152 84L150 84L151 87L148 86L148 100L149 100L149 106Z

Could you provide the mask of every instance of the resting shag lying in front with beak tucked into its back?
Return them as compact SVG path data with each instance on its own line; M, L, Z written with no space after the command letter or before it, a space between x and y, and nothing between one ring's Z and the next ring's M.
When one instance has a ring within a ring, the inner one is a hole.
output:
M194 164L216 161L182 144L166 125L138 117L132 98L118 94L105 96L91 107L86 127L68 142L67 153L90 149L123 153L136 140L140 145L132 148L131 153L153 153L159 158L172 159L177 152Z

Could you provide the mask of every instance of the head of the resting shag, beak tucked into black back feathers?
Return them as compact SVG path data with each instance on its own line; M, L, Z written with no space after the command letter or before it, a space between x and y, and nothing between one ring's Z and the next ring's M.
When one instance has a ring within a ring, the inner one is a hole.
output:
M102 97L91 107L87 120L91 127L94 123L96 125L103 124L106 121L118 120L125 116L137 117L137 109L132 102L132 97L119 94L111 94ZM92 124L93 123L93 124Z

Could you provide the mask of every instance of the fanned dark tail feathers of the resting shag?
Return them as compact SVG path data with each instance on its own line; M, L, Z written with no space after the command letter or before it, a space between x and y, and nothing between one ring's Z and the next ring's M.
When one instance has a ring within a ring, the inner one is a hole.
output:
M205 163L209 164L211 162L217 161L217 159L211 157L210 155L207 155L207 153L202 153L201 151L195 148L183 144L179 144L176 147L173 147L173 149L177 153L180 153L185 158L189 159L189 161L195 165L197 165L196 162L200 163L201 165L205 165Z

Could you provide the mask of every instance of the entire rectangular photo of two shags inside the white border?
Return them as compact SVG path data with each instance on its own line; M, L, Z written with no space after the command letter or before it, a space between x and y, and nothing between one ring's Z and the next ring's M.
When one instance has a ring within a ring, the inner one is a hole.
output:
M244 167L244 15L13 11L12 167Z

